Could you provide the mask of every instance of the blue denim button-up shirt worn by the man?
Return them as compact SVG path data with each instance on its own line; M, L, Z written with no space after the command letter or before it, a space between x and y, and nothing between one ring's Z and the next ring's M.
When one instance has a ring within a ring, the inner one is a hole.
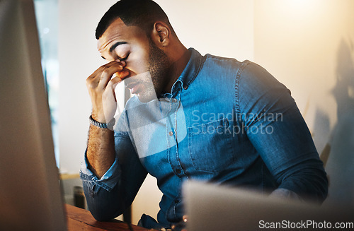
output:
M165 227L181 221L189 179L324 201L326 173L290 90L251 61L190 52L171 93L127 102L110 170L98 179L83 163L93 216L120 215L147 173L164 194L157 218Z

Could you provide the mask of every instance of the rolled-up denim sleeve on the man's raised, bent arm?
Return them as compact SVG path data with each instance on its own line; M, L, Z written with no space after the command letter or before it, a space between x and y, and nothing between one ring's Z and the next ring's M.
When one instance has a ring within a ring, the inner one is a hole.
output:
M118 122L121 123L118 125L122 125L124 117L120 117ZM139 160L127 129L118 127L114 140L115 161L101 179L89 170L86 154L81 165L80 177L89 211L100 221L122 214L135 199L147 176L147 170Z

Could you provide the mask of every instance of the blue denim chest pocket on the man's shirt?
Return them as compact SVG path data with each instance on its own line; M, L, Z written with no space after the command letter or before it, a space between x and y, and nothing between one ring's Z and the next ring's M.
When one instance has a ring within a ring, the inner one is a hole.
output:
M228 119L188 128L188 150L195 170L219 172L234 162L231 128Z

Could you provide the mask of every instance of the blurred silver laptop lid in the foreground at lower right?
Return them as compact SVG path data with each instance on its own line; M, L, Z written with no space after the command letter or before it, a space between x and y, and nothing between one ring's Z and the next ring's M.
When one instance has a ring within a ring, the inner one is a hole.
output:
M188 231L354 230L353 208L299 203L202 182L184 184L183 195Z

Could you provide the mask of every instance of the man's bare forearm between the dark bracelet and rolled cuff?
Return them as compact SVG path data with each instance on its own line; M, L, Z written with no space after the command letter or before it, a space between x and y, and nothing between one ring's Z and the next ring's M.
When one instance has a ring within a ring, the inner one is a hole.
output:
M114 132L90 125L86 155L90 170L101 178L115 160Z

